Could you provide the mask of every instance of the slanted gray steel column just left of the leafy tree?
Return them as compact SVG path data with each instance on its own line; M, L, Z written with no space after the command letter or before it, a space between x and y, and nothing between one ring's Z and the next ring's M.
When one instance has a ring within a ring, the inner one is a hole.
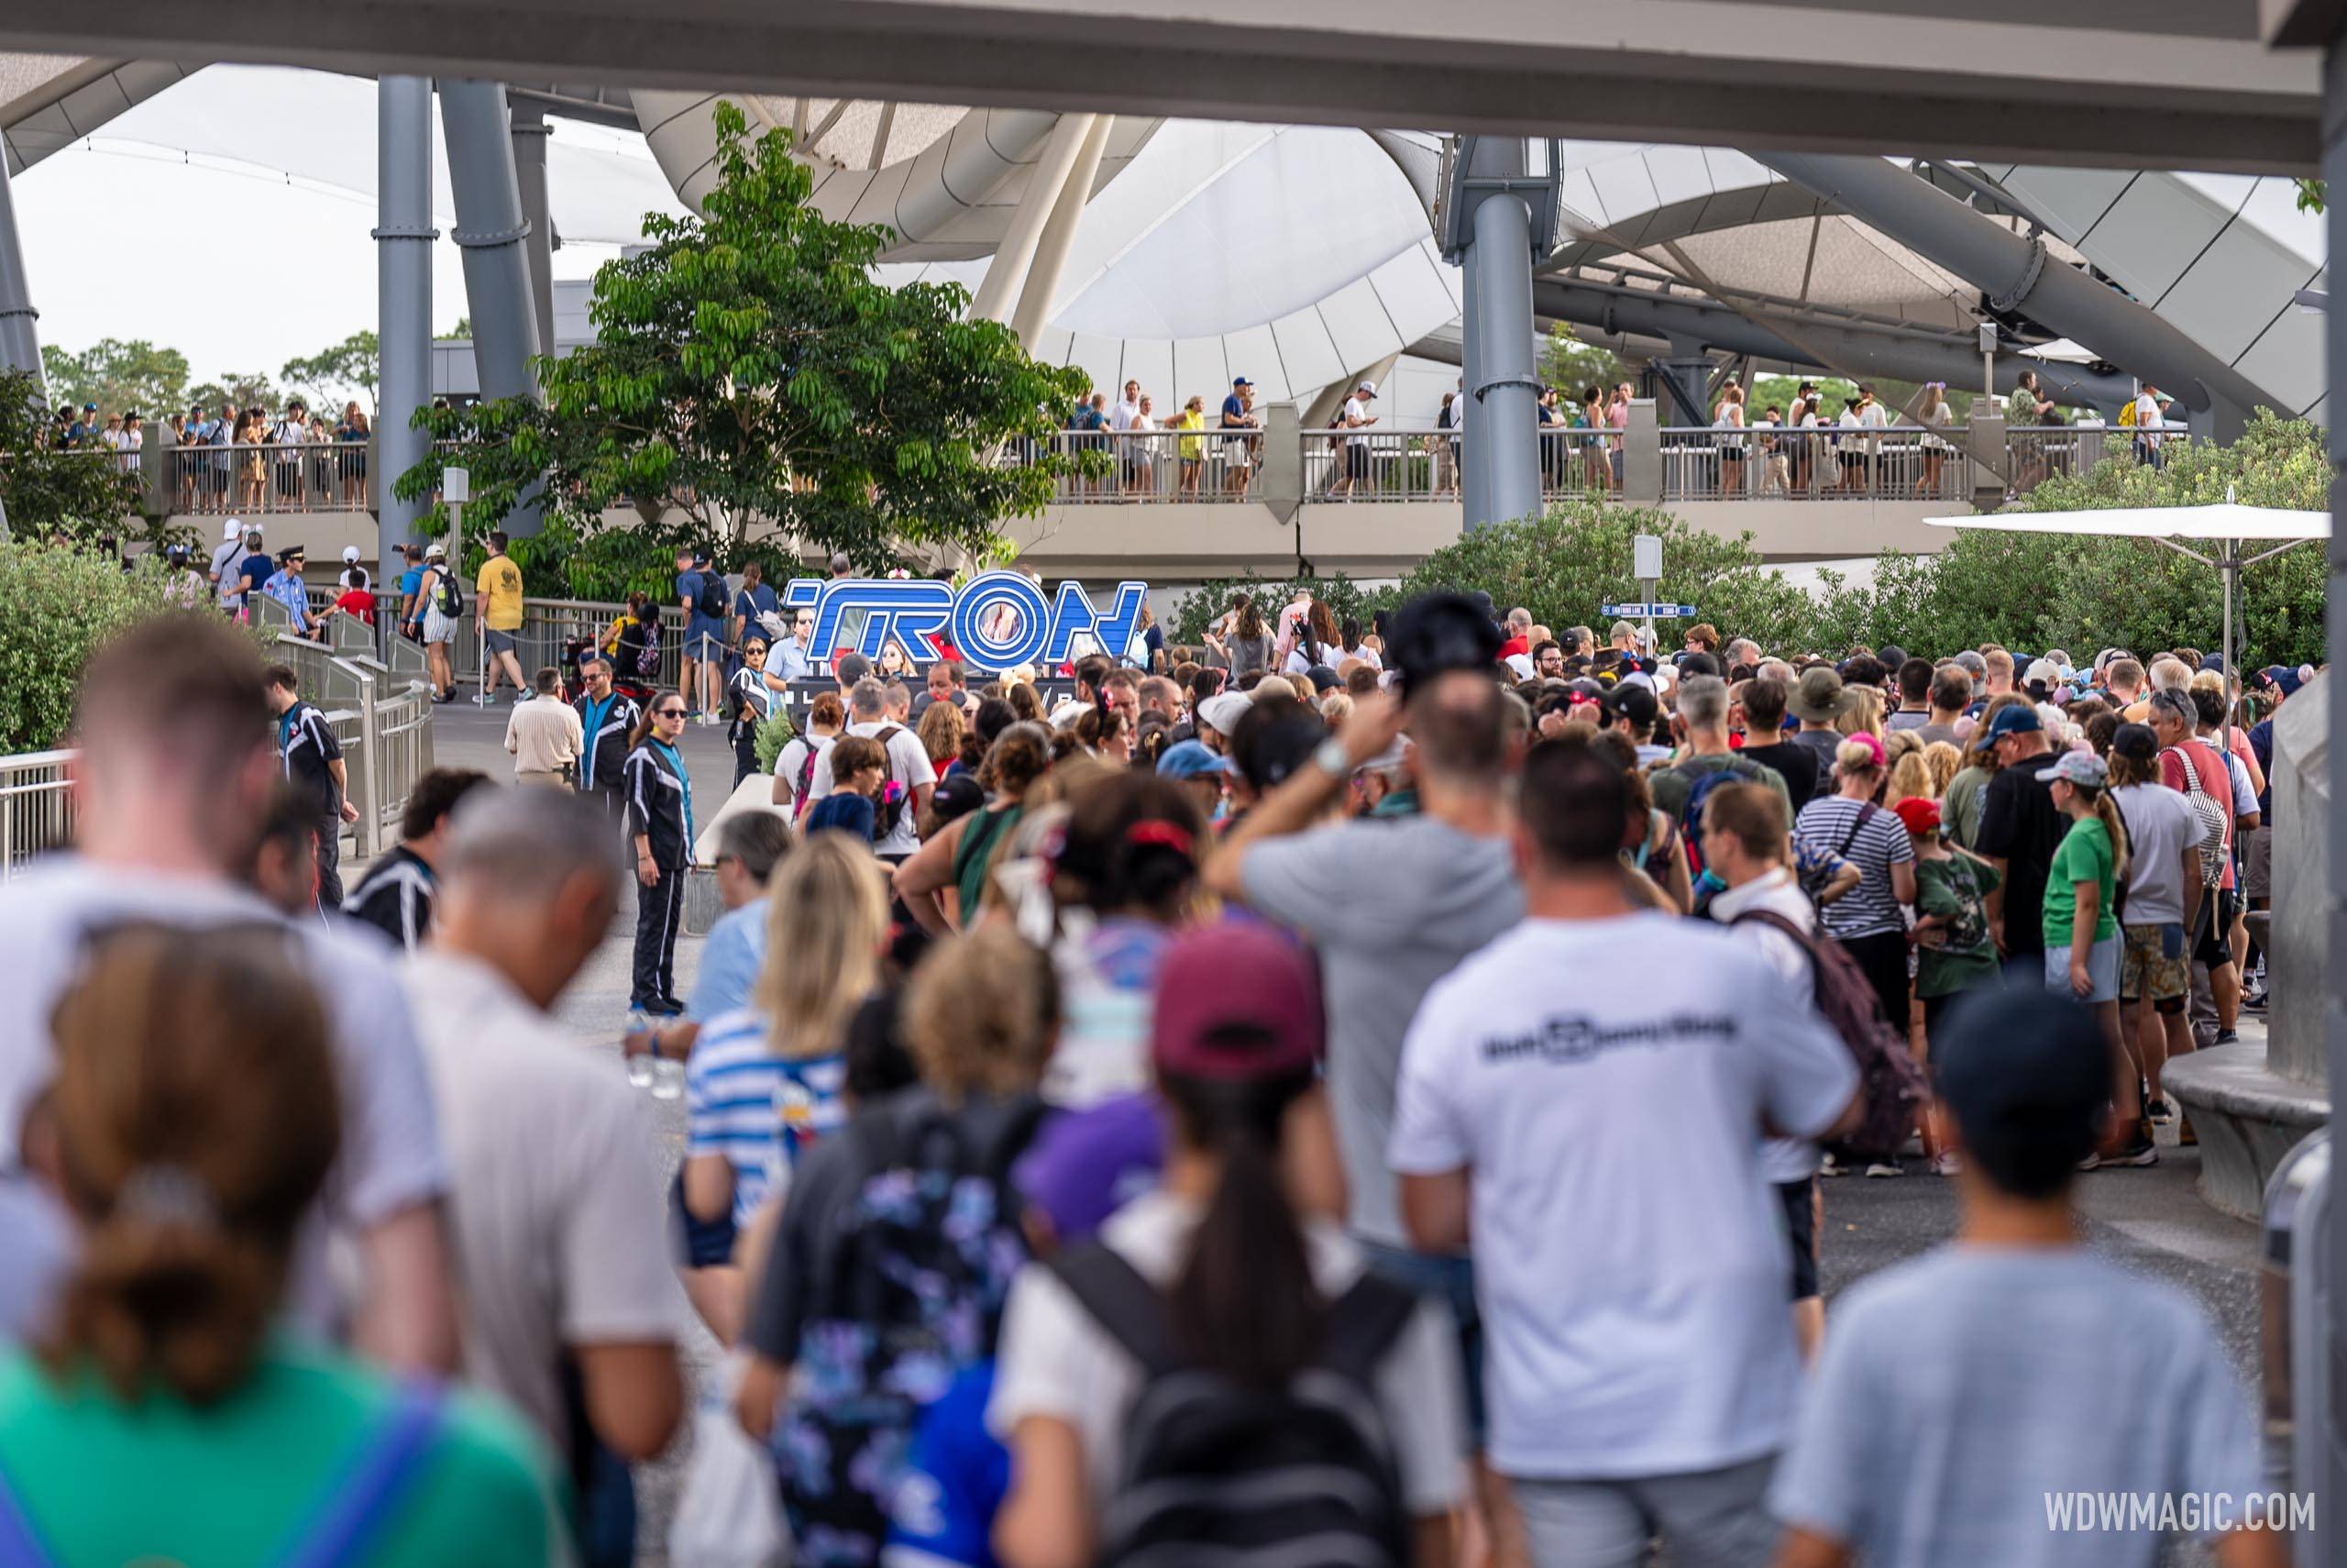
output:
M455 242L465 256L465 303L472 312L472 364L481 397L537 397L537 307L530 303L530 261L523 239L521 178L514 174L512 120L498 82L441 82L441 127L448 134L448 195L455 200ZM512 535L540 528L537 498L514 502L502 523Z

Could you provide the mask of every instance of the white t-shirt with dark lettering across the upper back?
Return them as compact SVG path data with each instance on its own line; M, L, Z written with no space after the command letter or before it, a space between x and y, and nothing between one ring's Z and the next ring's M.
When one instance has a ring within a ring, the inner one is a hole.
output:
M1528 918L1434 984L1387 1164L1469 1171L1500 1474L1664 1476L1786 1444L1800 1357L1763 1120L1817 1136L1856 1082L1807 986L1673 915Z

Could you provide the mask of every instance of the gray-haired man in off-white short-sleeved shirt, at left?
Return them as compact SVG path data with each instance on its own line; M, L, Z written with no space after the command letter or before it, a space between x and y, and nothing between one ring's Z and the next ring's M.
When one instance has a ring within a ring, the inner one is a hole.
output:
M448 1153L465 1376L573 1453L575 1366L594 1444L650 1460L685 1413L660 1164L627 1080L552 1019L620 913L620 843L577 796L502 789L455 810L441 859L406 993ZM627 1519L634 1540L627 1472L589 1474L582 1556L615 1561L598 1535Z

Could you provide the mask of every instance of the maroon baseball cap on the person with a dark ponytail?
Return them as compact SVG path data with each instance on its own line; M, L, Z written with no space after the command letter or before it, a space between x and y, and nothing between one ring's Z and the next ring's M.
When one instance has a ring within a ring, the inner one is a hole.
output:
M1159 1073L1216 1082L1310 1073L1321 1040L1319 972L1291 937L1223 920L1176 937L1157 965Z

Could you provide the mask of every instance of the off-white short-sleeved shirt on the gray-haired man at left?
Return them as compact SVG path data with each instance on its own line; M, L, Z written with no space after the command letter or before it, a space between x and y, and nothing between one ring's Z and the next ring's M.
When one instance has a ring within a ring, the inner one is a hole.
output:
M577 1345L674 1343L685 1303L645 1106L512 981L465 953L406 962L465 1282L465 1378L554 1444Z

